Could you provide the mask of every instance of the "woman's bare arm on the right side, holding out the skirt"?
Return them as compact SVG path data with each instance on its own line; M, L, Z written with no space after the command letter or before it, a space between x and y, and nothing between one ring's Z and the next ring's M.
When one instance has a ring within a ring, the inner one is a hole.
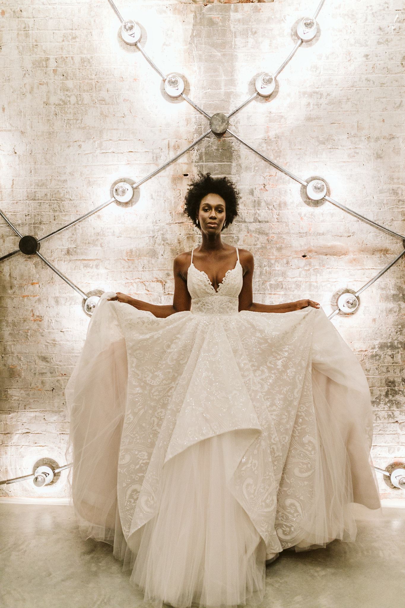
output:
M250 310L254 313L289 313L293 310L305 308L305 306L313 306L319 308L319 303L314 300L297 300L296 302L284 302L282 304L258 304L253 302L252 279L254 270L254 258L250 251L246 249L239 250L243 262L241 264L246 270L243 275L243 285L239 294L239 312L242 310Z

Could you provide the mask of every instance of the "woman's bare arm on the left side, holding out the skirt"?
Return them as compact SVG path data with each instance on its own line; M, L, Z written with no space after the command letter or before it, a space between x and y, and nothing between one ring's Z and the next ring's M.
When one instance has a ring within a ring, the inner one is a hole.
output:
M177 255L173 261L174 294L172 304L150 304L149 302L144 302L143 300L137 300L131 295L123 294L120 291L117 291L117 295L115 297L108 299L118 300L118 302L130 304L131 306L135 306L135 308L138 310L146 310L160 319L165 319L174 313L189 310L191 308L191 297L187 289L187 284L182 276L182 269L185 261L183 257L185 257L185 255L186 254Z

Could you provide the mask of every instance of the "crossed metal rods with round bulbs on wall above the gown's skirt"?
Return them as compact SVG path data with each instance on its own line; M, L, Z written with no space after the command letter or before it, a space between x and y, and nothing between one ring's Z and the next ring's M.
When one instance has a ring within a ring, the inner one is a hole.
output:
M234 131L231 131L229 128L229 119L232 116L234 116L236 114L236 112L239 112L240 109L245 108L245 106L247 106L254 98L256 98L257 95L259 95L260 97L269 97L272 94L272 92L274 91L275 85L276 85L277 76L281 73L281 71L287 65L288 61L290 61L290 59L293 57L296 50L298 50L299 46L301 46L302 43L308 42L310 40L313 40L313 38L315 38L316 33L317 33L316 17L318 16L318 13L321 10L322 5L324 4L325 0L321 0L321 2L319 3L318 7L315 10L315 13L313 13L313 16L304 17L299 22L297 30L296 30L296 33L298 36L298 41L295 44L293 50L291 50L288 57L285 59L285 61L283 61L281 66L277 69L277 71L274 72L274 74L265 72L264 74L260 75L256 79L256 83L255 83L256 92L253 95L251 95L251 97L249 97L245 102L241 103L236 109L234 109L233 112L231 112L228 115L222 114L222 112L218 112L216 114L213 114L212 116L209 116L209 114L207 112L205 112L196 103L194 103L187 95L185 95L184 83L179 74L171 73L171 74L168 74L167 76L165 76L163 74L163 72L160 71L160 69L157 67L157 65L154 63L154 61L152 61L152 59L149 57L149 55L146 54L145 49L143 49L143 47L141 47L139 44L139 41L141 39L141 29L138 26L138 24L135 21L132 21L132 19L124 20L123 17L121 16L120 12L118 11L116 5L114 4L114 2L112 0L108 0L108 1L109 1L109 4L111 4L112 9L114 9L115 14L118 16L118 19L120 19L120 21L121 21L120 33L121 33L121 37L123 38L124 42L126 42L127 44L129 44L131 46L135 46L135 47L137 47L138 50L140 50L141 54L145 57L145 59L149 62L149 64L151 64L153 69L162 78L162 80L164 82L166 94L168 94L169 97L172 97L172 98L183 97L186 100L186 102L188 102L190 105L193 106L193 108L195 108L197 111L199 111L201 114L203 114L203 116L205 116L207 119L209 119L209 129L208 129L208 131L205 131L205 133L203 133L196 140L194 140L190 145L188 145L186 148L184 148L182 151L180 151L178 154L176 154L174 157L172 157L171 159L166 161L163 165L160 165L160 167L158 167L157 169L155 169L154 171L152 171L151 173L146 175L144 178L140 179L140 181L138 181L132 185L126 181L119 182L114 187L114 190L113 190L114 196L112 198L110 198L108 201L103 202L98 207L95 207L95 209L91 209L89 212L85 213L84 215L81 215L79 218L74 219L73 221L66 224L66 226L63 226L61 228L58 228L57 230L54 230L53 232L50 232L45 237L42 237L39 239L36 239L35 237L33 237L31 235L26 235L23 237L21 235L21 233L16 229L16 227L13 226L13 224L9 221L9 219L7 219L7 217L4 215L4 213L2 213L2 211L0 210L0 215L5 219L7 224L9 224L9 226L14 230L14 232L20 237L19 249L15 249L14 251L10 252L9 254L3 255L2 257L0 257L0 261L5 260L6 258L9 258L12 255L15 255L20 251L26 255L34 255L34 254L38 255L39 258L41 258L41 260L43 260L43 262L46 263L50 269L52 269L59 277L61 277L64 281L66 281L66 283L68 285L70 285L70 287L72 287L72 289L75 289L75 291L77 291L78 294L80 294L83 297L84 312L87 315L91 316L92 311L95 308L95 305L97 304L99 295L85 294L80 288L78 288L76 285L73 285L73 283L67 277L65 277L57 268L55 268L55 266L53 266L53 264L50 263L49 260L47 260L42 254L39 253L41 241L44 241L47 238L53 237L53 235L58 234L59 232L62 232L62 230L66 230L70 226L74 226L75 224L80 222L82 219L85 219L85 218L89 217L90 215L93 215L100 209L104 209L104 207L109 205L111 202L125 203L125 202L131 201L132 197L134 196L134 190L136 188L138 188L141 184L148 181L148 179L151 179L152 177L154 177L155 175L160 173L160 171L163 171L163 169L165 169L166 167L171 165L172 162L177 161L177 159L179 159L180 156L183 156L183 154L185 154L188 150L191 150L191 148L196 146L197 143L199 143L202 139L204 139L210 133L214 133L217 136L222 136L225 133L229 133L231 136L233 136L237 141L242 143L249 150L251 150L258 156L260 156L260 158L262 158L264 161L268 162L274 168L276 168L279 171L282 171L282 173L285 173L288 177L290 177L291 179L294 179L294 181L301 184L301 186L305 188L305 193L306 193L308 199L310 199L312 201L321 201L321 199L322 199L323 201L331 202L336 207L339 207L339 209L342 209L342 210L346 211L347 213L351 213L356 218L362 219L363 221L366 221L367 223L371 224L372 226L375 226L376 228L384 230L385 232L388 232L388 233L394 235L395 237L401 238L401 240L403 242L403 247L404 247L403 251L401 251L401 253L399 255L397 255L394 260L392 260L389 264L387 264L387 266L385 268L383 268L381 271L379 271L378 274L375 275L375 277L373 277L368 283L366 283L366 285L363 285L357 291L354 291L354 290L349 291L347 289L343 290L341 295L339 295L339 297L338 297L338 301L337 301L338 308L336 308L335 311L333 311L333 313L331 313L328 316L328 318L332 319L332 317L334 317L335 314L338 314L339 311L341 311L342 313L345 313L345 314L353 313L353 311L355 311L355 309L358 308L358 306L359 306L359 300L358 300L359 294L361 294L365 289L370 287L370 285L372 285L379 277L381 277L381 275L384 274L384 272L386 272L391 266L393 266L393 264L396 263L396 261L400 260L400 258L405 254L405 237L404 237L404 235L401 235L398 232L394 232L393 230L390 230L389 228L376 223L372 219L366 218L364 215L361 215L360 213L356 212L355 210L349 209L349 207L346 207L345 205L339 203L338 201L335 201L335 199L330 198L330 196L328 196L327 182L324 179L313 178L313 179L310 179L310 181L305 181L304 179L300 178L299 176L295 175L294 173L291 173L291 171L288 171L285 167L282 167L281 165L279 165L276 162L274 162L273 160L271 160L268 156L261 153L259 150L256 150L256 148L251 146L250 143L245 142L245 140L243 140L241 137L239 137L239 135L234 133Z

